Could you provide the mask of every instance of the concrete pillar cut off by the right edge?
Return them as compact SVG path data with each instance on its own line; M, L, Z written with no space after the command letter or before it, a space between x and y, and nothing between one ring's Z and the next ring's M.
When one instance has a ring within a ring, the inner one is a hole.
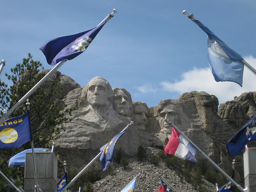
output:
M244 152L244 186L247 192L256 192L256 148Z

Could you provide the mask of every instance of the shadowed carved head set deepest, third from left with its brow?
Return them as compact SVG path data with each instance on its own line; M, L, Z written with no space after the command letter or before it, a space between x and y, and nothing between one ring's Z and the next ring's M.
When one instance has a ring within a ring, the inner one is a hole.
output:
M148 106L144 102L133 101L133 119L138 130L146 131L148 125Z

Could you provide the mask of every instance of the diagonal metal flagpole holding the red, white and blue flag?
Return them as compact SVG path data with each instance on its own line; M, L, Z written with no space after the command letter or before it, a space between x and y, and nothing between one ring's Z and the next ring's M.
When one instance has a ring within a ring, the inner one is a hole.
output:
M166 122L169 122L169 124L171 126L173 126L184 138L186 138L186 140L188 140L195 148L197 148L197 150L215 167L217 168L226 178L228 178L228 180L230 180L230 182L232 182L240 191L242 192L246 192L239 184L237 184L230 176L228 176L228 174L226 174L226 172L224 172L216 163L214 163L204 152L202 152L202 150L200 150L200 148L198 148L198 146L196 146L186 135L184 135L184 133L182 133L172 122L170 122L168 119L166 120Z

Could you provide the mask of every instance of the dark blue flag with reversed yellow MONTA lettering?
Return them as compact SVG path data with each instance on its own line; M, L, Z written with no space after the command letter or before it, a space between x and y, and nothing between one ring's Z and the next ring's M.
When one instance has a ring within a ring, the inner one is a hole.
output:
M0 124L0 150L18 148L31 140L29 112Z

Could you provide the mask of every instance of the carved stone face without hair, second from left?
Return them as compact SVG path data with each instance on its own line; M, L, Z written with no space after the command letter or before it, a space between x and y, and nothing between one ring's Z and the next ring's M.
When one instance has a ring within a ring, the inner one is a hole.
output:
M122 90L117 90L114 97L114 110L121 116L128 116L129 114L129 99L125 92Z

